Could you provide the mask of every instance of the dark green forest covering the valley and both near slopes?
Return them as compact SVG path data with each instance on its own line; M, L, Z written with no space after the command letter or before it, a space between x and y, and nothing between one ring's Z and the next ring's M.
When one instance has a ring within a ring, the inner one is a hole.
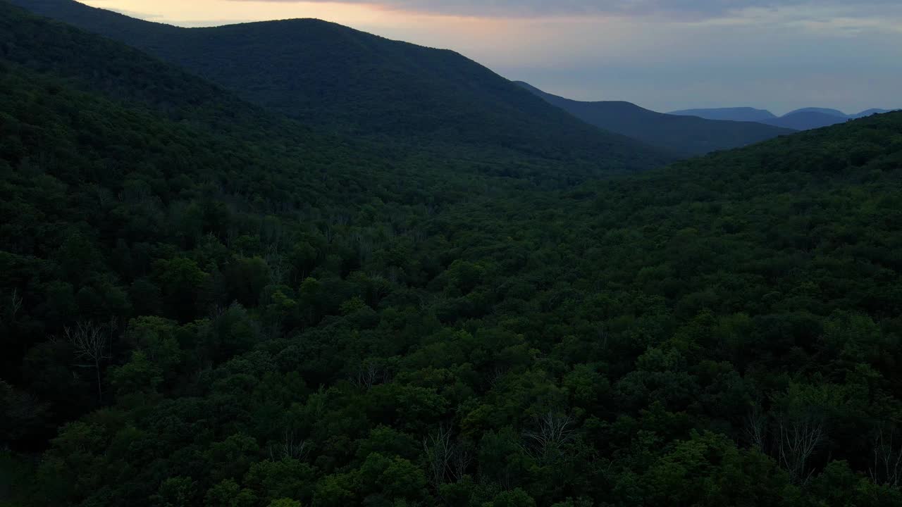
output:
M902 113L413 144L0 2L0 506L902 505Z

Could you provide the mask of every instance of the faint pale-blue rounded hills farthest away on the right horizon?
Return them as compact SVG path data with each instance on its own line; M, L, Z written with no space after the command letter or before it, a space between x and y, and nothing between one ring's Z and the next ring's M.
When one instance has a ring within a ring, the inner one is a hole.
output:
M709 120L731 120L734 122L759 122L773 126L795 130L811 130L833 124L842 124L849 120L865 116L889 113L891 109L868 109L857 115L846 115L837 109L825 107L804 107L790 111L786 115L777 116L765 109L751 107L723 107L715 109L684 109L672 111L670 115L698 116Z

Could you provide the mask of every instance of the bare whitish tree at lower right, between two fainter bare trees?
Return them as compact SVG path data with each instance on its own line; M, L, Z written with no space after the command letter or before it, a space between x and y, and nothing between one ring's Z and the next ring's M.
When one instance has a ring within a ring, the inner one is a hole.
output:
M783 414L778 417L777 429L780 464L787 469L794 482L805 484L814 473L809 466L811 457L824 441L824 421L811 413L795 416Z

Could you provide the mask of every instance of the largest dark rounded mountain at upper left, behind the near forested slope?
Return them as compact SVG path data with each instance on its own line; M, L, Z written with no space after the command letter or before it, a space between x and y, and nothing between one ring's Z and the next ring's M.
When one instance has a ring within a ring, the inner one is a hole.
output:
M488 152L512 151L566 161L573 171L639 170L673 158L577 121L456 52L336 23L296 19L189 29L72 0L15 3L124 41L329 132L454 157L472 158L476 149L489 160Z

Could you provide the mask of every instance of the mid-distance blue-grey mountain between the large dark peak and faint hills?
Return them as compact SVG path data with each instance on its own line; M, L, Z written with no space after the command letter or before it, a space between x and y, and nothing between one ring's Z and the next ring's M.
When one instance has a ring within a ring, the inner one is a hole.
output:
M700 155L758 143L790 129L752 122L705 120L695 116L665 115L629 102L580 102L546 93L527 83L523 88L564 109L587 124L638 139L671 152Z

